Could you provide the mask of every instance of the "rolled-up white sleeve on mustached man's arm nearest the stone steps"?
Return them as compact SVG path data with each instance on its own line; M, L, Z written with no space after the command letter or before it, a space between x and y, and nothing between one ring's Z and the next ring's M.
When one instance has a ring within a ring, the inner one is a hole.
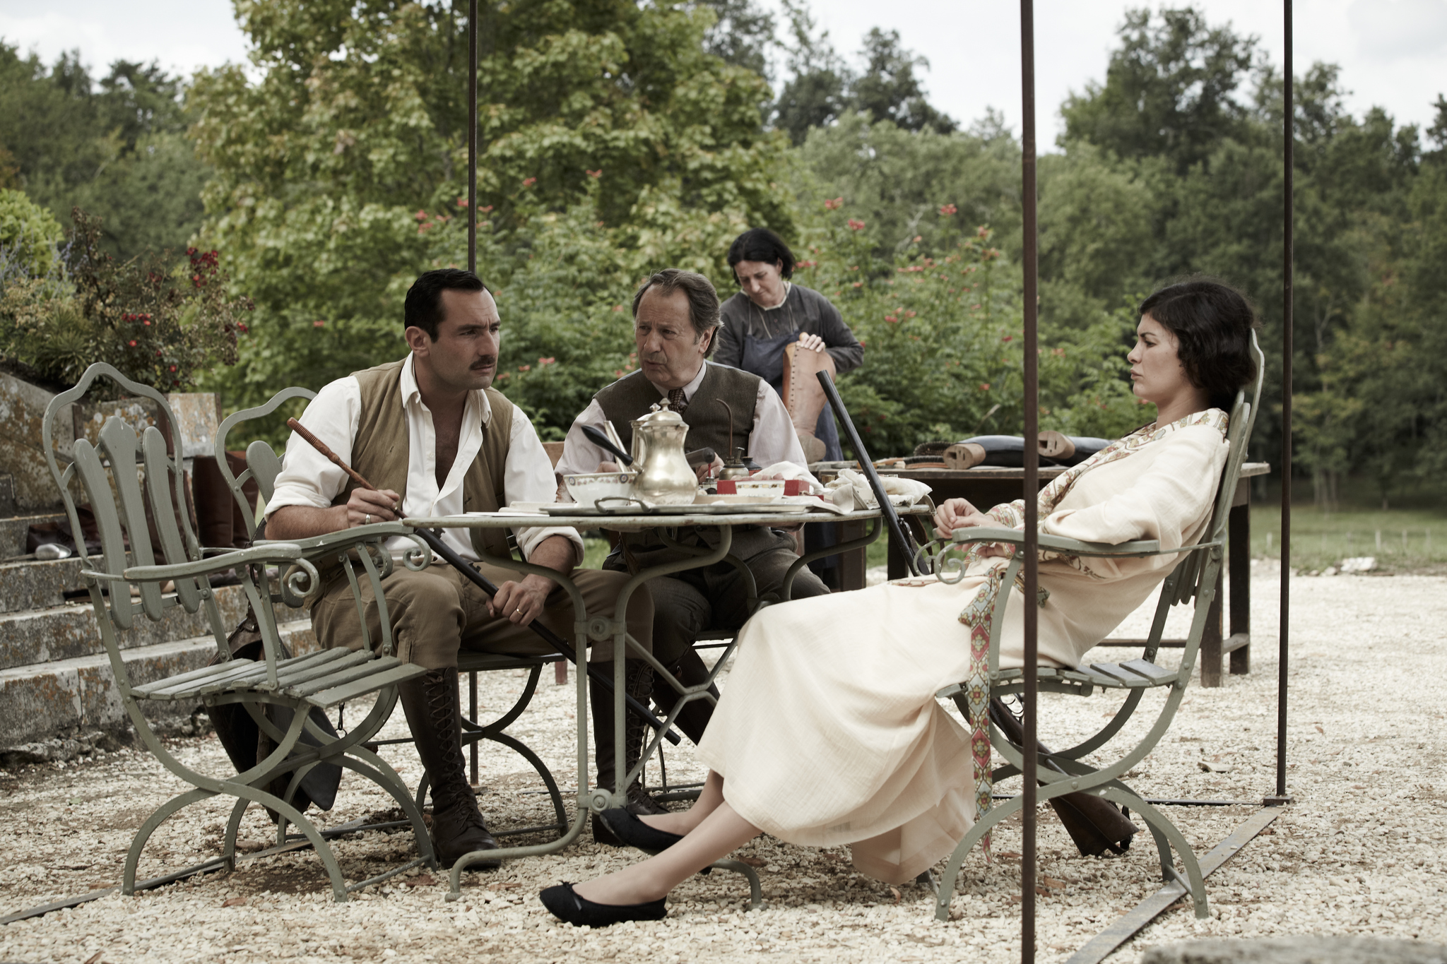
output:
M297 421L350 465L352 439L360 413L362 386L349 377L326 384ZM266 502L266 516L271 517L282 506L328 509L346 484L346 473L292 432L287 439L281 474L276 475L276 490Z

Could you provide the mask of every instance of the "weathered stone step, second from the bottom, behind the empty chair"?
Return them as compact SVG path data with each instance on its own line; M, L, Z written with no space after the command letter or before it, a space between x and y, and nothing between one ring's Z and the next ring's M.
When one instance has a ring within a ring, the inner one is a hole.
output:
M221 585L216 590L216 601L221 610L221 624L230 632L246 616L246 595L239 585ZM307 619L304 608L288 606L273 608L278 623ZM207 636L210 632L204 607L194 614L174 607L158 621L137 616L132 629L117 633L117 643L122 649L135 649ZM20 613L0 613L0 669L104 652L100 629L96 624L96 610L88 600Z

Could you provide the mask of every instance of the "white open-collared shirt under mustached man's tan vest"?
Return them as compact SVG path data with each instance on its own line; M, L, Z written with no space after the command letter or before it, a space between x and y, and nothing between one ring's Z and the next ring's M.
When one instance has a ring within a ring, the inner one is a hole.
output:
M492 406L482 390L467 393L462 413L462 435L457 439L457 458L447 471L447 480L437 487L437 432L433 428L433 413L423 403L412 371L412 356L402 366L401 379L402 418L407 422L407 491L402 493L402 517L460 516L463 513L463 478L478 451L482 448L482 426L492 418ZM362 415L362 386L353 376L331 382L313 399L300 422L313 435L326 442L341 461L352 462L352 439L357 434ZM596 468L596 465L595 465ZM508 460L502 471L506 499L518 502L554 502L557 486L553 481L553 464L543 449L537 429L519 408L512 409L512 434L508 441ZM327 509L331 500L346 487L347 477L340 468L307 444L295 432L287 441L287 458L276 477L276 493L266 503L266 516L282 506L313 506ZM504 493L498 493L499 497ZM501 507L501 506L499 506ZM583 539L576 529L519 528L514 529L524 556L548 536L566 536L573 541L577 561L583 558ZM478 559L467 529L444 529L443 541L464 559ZM407 549L410 539L392 539L389 549Z

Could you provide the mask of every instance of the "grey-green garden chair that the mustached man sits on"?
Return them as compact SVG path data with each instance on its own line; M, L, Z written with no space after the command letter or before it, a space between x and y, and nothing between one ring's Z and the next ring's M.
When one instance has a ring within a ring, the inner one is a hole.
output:
M227 416L216 432L217 465L220 465L221 468L221 477L226 480L226 484L232 491L232 497L236 499L236 503L242 507L242 515L246 517L247 536L252 539L256 538L256 529L258 529L253 517L255 512L246 494L242 491L242 487L246 484L246 481L255 480L258 489L260 490L262 502L263 503L271 502L272 496L276 491L276 477L281 474L282 460L276 455L276 452L268 442L256 439L246 447L246 470L242 471L240 475L233 475L226 462L226 451L227 451L226 441L230 436L230 434L245 422L258 418L265 418L292 399L311 400L314 397L317 397L317 393L310 389L302 389L302 387L282 389L271 399L268 399L263 405L250 409L243 409L240 412ZM411 532L408 526L395 522L373 523L372 526L360 526L360 528L346 529L344 532L339 533L330 533L327 536L320 536L318 539L301 539L298 542L294 542L294 545L301 546L302 558L307 558L313 562L318 562L326 558L340 558L343 567L346 567L349 572L352 572L356 568L356 561L360 558L360 555L356 551L347 552L349 548L355 549L355 546L349 546L347 543L356 541L355 533L372 532L372 530L382 530L383 539L392 535L407 535ZM378 541L379 546L381 542L382 541ZM317 545L313 546L313 543ZM509 545L511 545L511 536L509 536ZM339 548L341 548L343 551L341 554L339 554ZM382 548L382 555L383 556L388 555L385 548ZM430 555L431 554L428 552L428 556ZM388 559L388 562L391 562L391 559ZM357 588L357 581L355 577L350 578L355 593ZM381 593L376 593L376 598L378 600L382 598ZM285 593L285 590L282 590L279 600L294 607L300 607L304 604L302 598L297 597L295 594L288 594ZM391 627L386 626L385 613L386 610L383 601L381 621L383 623L382 632L388 637L385 643L386 653L391 655L392 652ZM365 620L363 620L363 630L365 630ZM469 714L462 720L462 746L472 749L472 782L473 783L478 782L478 744L483 740L489 740L492 743L505 746L509 750L518 753L518 756L521 756L524 760L527 760L528 765L543 779L543 783L547 788L550 802L553 804L553 814L556 818L553 824L543 824L538 827L518 827L501 831L493 830L492 831L493 837L512 837L519 834L532 834L544 831L556 831L557 834L567 832L569 822L567 822L567 812L563 809L563 795L559 791L557 780L553 778L551 770L548 770L547 765L543 762L541 757L538 757L537 753L532 752L531 747L528 747L525 743L511 736L509 733L506 733L506 727L511 726L519 715L522 715L524 710L527 710L528 704L532 701L532 694L537 692L538 678L543 673L543 668L557 662L559 659L561 659L561 656L508 656L501 653L478 653L466 649L457 653L457 671L462 673L467 673L469 676L470 708ZM528 679L522 685L522 691L518 695L517 701L506 713L499 715L496 720L492 720L491 723L479 724L478 673L495 672L502 669L527 669ZM388 715L389 714L391 708L388 708ZM382 721L385 723L386 717L383 717ZM339 727L341 726L340 711L339 711L337 726ZM398 737L391 740L373 740L369 746L376 747L376 746L389 746L389 744L411 743L411 741L412 741L411 737ZM427 801L427 789L428 789L428 779L424 776L417 786L415 802L418 809L421 809L421 806Z

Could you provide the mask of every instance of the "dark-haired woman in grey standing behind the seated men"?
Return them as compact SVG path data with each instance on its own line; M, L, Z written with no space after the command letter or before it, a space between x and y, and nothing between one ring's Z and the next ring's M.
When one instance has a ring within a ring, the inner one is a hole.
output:
M789 280L794 273L794 254L783 238L768 228L750 228L734 238L728 263L741 291L721 308L724 324L716 335L713 361L757 374L786 400L784 347L792 343L800 343L800 351L828 351L835 374L860 367L864 345L849 331L849 325L844 324L839 309L812 288ZM839 428L828 402L819 413L815 438L823 442L823 452L815 455L815 460L844 458ZM818 445L815 449L818 451ZM807 452L807 447L805 451ZM833 526L805 526L806 552L831 545ZM838 556L810 564L825 584L833 587L838 582L831 580L829 571L836 571L836 567Z

